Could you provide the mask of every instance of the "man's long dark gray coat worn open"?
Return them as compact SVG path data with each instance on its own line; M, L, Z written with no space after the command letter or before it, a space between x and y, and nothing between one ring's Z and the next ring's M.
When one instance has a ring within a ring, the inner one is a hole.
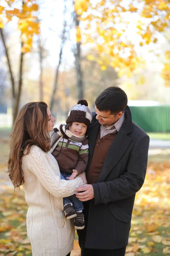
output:
M141 189L147 169L149 136L132 121L130 108L126 120L107 152L101 173L92 184L95 198L84 203L85 229L78 230L81 247L117 249L126 247L135 193ZM100 124L95 116L89 129L89 163ZM99 156L100 157L100 156Z

